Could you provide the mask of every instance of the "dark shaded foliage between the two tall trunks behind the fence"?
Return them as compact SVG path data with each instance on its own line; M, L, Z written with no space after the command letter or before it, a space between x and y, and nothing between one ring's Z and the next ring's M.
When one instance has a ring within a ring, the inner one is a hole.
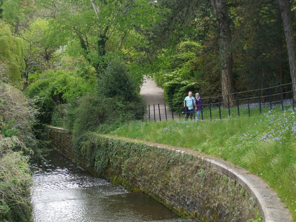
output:
M235 80L238 91L267 88L283 84L284 81L287 83L290 78L284 75L289 70L287 56L283 54L284 34L277 9L276 4L249 7L237 37L239 44L234 70L238 74Z

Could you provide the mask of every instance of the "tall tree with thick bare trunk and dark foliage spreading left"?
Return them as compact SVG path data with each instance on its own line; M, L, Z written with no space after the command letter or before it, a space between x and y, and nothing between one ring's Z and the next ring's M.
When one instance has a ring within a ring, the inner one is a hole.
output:
M163 8L163 17L165 18L163 22L157 24L155 38L157 41L159 39L166 40L166 36L172 42L178 40L184 40L188 38L188 34L191 35L195 32L199 32L202 27L207 27L209 23L214 25L217 23L216 33L218 38L219 46L219 69L221 71L221 86L224 102L227 101L227 96L230 96L230 104L235 104L234 99L234 86L233 86L233 55L231 52L231 17L228 15L228 3L223 0L195 0L195 1L159 1L158 5ZM211 20L209 20L209 18ZM192 29L192 22L197 19L201 20L198 26L199 30ZM161 32L159 32L159 30ZM182 35L182 37L178 35ZM190 37L189 37L190 38Z

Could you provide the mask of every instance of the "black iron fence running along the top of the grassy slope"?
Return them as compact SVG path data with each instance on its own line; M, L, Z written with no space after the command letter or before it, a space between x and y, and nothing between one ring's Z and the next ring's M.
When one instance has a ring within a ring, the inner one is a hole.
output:
M202 93L200 93L202 95ZM187 95L186 95L187 96ZM260 115L262 112L279 109L295 109L295 90L292 83L257 89L234 94L202 98L204 108L201 120L223 119L241 115ZM184 96L185 98L185 96ZM193 102L195 102L193 100ZM174 120L184 118L184 101L149 104L135 107L137 119L151 121ZM194 118L196 117L193 112Z

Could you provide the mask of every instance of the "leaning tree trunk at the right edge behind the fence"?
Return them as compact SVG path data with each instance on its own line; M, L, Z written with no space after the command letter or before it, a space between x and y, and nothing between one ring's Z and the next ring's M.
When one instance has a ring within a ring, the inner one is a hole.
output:
M288 50L288 59L291 79L293 82L294 99L296 99L296 42L293 34L292 20L290 15L290 8L287 0L278 0L281 18L283 20L285 39Z

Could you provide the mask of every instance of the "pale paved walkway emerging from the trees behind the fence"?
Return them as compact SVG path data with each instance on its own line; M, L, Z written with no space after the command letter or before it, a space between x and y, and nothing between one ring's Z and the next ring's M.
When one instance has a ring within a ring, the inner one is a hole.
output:
M154 80L145 79L140 94L147 106L149 106L149 112L144 116L146 119L150 119L151 121L163 121L172 118L179 118L178 114L174 114L172 116L172 112L168 107L168 104L165 103L164 92L161 87L158 87ZM148 110L148 109L147 109ZM182 114L181 117L183 118Z

